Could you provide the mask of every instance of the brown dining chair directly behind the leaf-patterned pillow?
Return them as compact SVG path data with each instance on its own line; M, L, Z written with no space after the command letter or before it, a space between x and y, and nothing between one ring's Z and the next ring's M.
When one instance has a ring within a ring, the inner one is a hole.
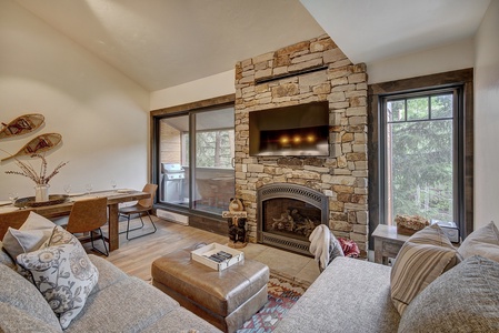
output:
M101 226L108 222L108 199L92 198L88 200L76 201L72 205L66 230L72 234L89 233L92 249L108 256L109 251L106 246L106 240L102 235ZM97 239L94 235L97 234ZM87 241L87 238L79 238L80 241ZM94 240L101 239L104 251L100 251L93 244Z

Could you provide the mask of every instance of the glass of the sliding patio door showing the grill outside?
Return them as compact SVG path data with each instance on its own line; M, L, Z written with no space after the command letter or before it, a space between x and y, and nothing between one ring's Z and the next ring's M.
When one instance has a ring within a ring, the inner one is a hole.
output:
M221 214L234 195L233 107L157 117L159 203Z

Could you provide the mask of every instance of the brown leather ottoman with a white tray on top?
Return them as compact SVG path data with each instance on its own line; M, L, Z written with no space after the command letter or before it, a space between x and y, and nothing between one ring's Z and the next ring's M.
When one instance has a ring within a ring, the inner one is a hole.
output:
M224 332L234 332L267 303L269 268L243 260L216 271L188 249L152 262L152 285Z

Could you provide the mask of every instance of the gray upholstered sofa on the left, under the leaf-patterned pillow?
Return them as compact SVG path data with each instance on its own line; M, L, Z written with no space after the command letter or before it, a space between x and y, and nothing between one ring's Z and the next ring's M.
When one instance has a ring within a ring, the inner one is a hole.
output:
M0 256L0 332L220 332L152 285L92 254L99 281L83 310L62 331L36 286L14 271L1 250Z

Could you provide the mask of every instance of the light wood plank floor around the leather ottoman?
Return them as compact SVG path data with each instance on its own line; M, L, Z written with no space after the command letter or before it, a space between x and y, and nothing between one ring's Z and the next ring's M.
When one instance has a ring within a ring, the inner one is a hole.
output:
M84 244L89 253L100 255L129 275L149 281L151 279L151 263L178 249L191 248L198 243L226 244L229 240L216 233L168 222L152 216L158 231L143 238L128 241L126 234L120 234L120 249L112 251L108 258L91 250L89 243ZM146 226L133 231L133 235L152 231L149 219L143 219ZM132 220L131 228L140 225L140 220ZM120 230L126 230L127 223L120 223ZM106 230L103 230L106 234ZM96 246L102 249L102 242L97 241ZM319 275L319 269L313 259L287 251L269 248L262 244L248 244L243 249L244 258L267 264L271 272L292 279L302 284L311 284Z

